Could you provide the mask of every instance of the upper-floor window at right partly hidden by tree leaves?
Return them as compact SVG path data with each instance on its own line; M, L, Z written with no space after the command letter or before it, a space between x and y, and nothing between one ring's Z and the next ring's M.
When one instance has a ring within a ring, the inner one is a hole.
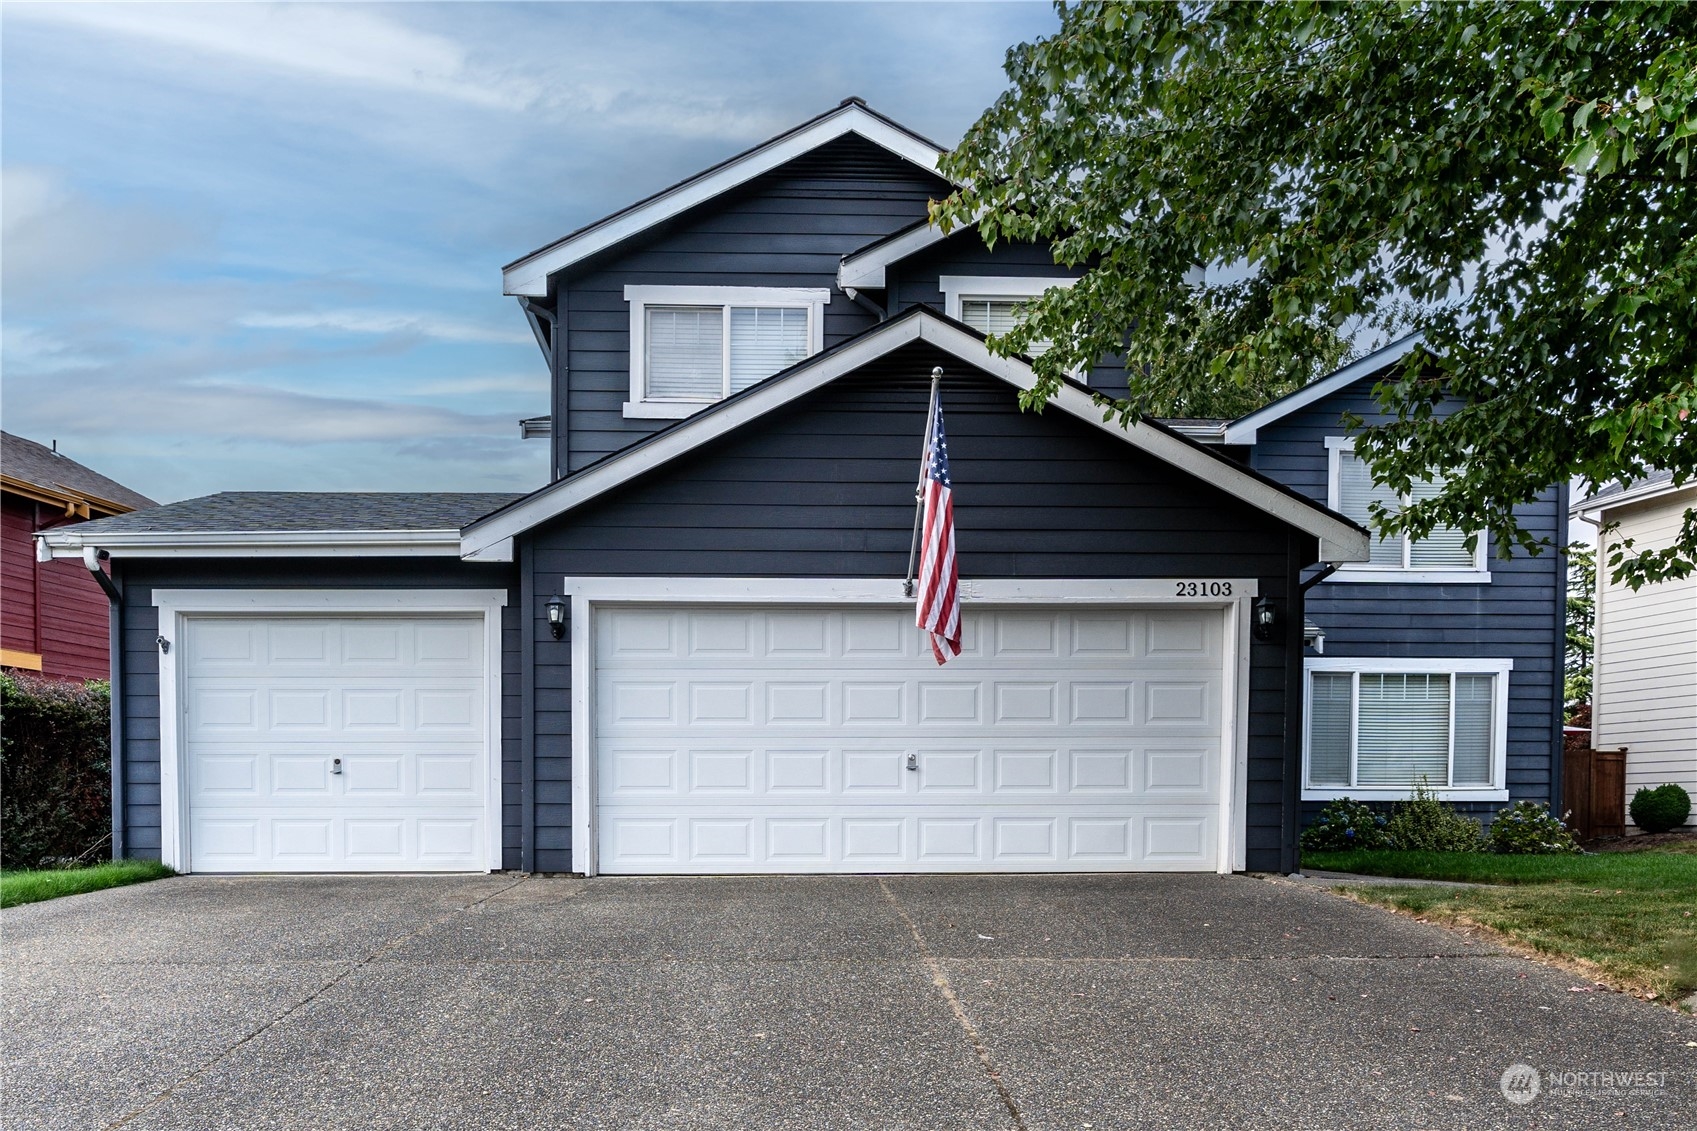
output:
M1417 482L1407 494L1398 494L1373 481L1366 460L1354 453L1347 440L1334 436L1327 447L1332 457L1330 506L1368 530L1373 528L1375 503L1397 511L1420 499L1429 499L1444 487L1444 481L1437 479ZM1366 562L1346 566L1337 572L1337 577L1347 581L1376 571L1385 574L1385 579L1402 576L1410 581L1488 581L1483 543L1485 540L1478 538L1473 549L1468 549L1468 533L1456 526L1432 526L1424 538L1410 538L1405 533L1375 538L1371 557Z

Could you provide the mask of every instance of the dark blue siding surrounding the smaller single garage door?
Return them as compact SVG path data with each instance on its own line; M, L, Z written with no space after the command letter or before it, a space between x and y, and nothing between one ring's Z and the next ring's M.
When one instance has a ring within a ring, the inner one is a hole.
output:
M512 566L453 559L124 560L124 783L129 856L160 859L160 610L154 589L506 589L501 611L502 868L519 866L519 594Z

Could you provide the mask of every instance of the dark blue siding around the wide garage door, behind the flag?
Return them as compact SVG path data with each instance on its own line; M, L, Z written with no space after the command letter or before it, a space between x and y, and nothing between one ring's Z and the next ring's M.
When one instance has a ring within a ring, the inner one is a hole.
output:
M927 346L816 392L765 421L526 535L538 594L536 851L570 854L570 640L541 601L565 576L901 577L927 379L944 365L964 577L1257 577L1283 599L1312 538L1059 411L1022 414L1013 391ZM1283 644L1251 656L1249 866L1281 866Z

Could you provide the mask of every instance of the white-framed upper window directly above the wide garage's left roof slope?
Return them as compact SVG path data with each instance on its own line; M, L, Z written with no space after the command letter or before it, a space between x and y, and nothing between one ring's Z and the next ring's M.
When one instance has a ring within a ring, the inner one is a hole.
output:
M626 287L626 416L680 418L765 380L823 345L828 290Z

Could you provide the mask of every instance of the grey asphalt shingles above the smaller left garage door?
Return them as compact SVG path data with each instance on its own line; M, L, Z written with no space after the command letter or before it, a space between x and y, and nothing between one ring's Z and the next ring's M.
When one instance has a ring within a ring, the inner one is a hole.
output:
M518 494L438 491L222 491L76 528L102 533L458 530Z

